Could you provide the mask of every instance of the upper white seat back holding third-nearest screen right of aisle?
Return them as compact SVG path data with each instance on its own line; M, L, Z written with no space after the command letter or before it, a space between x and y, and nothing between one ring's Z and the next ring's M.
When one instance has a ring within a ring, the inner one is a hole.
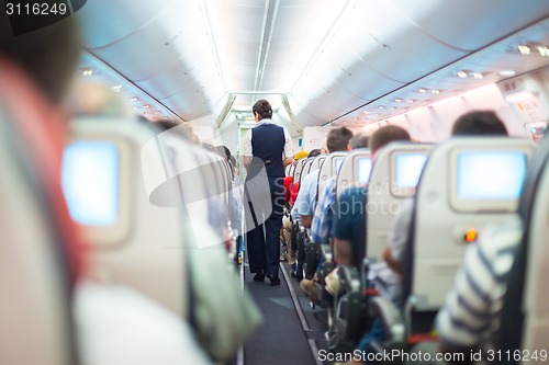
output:
M349 152L345 157L337 174L337 196L347 187L366 186L370 179L371 169L372 161L369 150L358 149Z

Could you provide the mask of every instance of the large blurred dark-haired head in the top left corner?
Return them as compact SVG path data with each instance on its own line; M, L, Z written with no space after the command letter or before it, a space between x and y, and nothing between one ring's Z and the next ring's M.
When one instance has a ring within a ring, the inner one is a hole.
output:
M59 104L66 95L80 50L80 32L75 16L13 35L5 12L0 13L0 57L19 65L53 105Z

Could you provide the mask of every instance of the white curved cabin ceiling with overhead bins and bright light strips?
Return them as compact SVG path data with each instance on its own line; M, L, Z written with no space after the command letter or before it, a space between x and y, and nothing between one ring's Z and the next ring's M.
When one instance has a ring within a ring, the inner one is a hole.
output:
M549 45L548 0L88 0L78 16L82 69L111 75L137 110L222 128L259 98L293 133L366 124L549 65L516 52Z

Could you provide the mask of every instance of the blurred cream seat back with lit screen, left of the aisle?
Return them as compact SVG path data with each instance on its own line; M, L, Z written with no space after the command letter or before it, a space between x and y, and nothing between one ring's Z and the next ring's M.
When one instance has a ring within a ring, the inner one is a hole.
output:
M157 137L156 128L133 118L76 119L63 181L71 216L93 246L94 276L130 286L184 318L183 248L190 242L182 227L186 217L176 207L182 206L180 190L189 184L201 191L197 198L206 196L206 181L195 168L195 148L177 138L172 145L186 149L192 182L173 179L161 186L173 175L169 162L178 157L169 147L170 132ZM210 179L214 176L212 171ZM193 216L208 219L208 209Z

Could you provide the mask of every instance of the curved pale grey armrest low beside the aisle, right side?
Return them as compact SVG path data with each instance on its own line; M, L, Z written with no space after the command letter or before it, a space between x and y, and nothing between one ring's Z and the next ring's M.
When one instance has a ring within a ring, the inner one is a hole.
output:
M383 323L388 343L404 343L404 320L399 308L391 300L381 296L372 297L368 303L368 310L370 316L378 317Z

